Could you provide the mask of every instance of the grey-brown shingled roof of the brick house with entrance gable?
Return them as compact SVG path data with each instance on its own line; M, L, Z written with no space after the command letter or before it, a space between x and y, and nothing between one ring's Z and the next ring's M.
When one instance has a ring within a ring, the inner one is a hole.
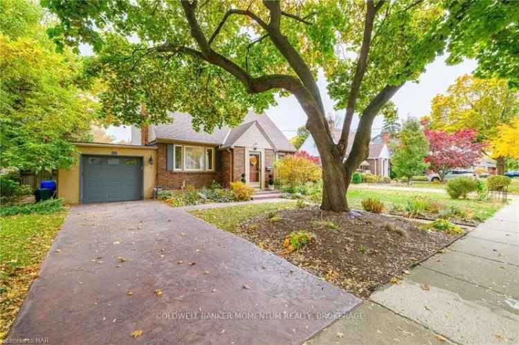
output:
M170 124L160 124L149 127L148 141L179 140L185 142L201 142L231 146L247 131L255 122L264 132L266 138L273 144L277 151L297 151L284 136L283 132L265 114L257 114L249 111L244 121L238 127L215 128L212 133L203 130L195 131L192 127L192 116L188 113L170 113L173 118ZM229 144L230 143L230 144Z

